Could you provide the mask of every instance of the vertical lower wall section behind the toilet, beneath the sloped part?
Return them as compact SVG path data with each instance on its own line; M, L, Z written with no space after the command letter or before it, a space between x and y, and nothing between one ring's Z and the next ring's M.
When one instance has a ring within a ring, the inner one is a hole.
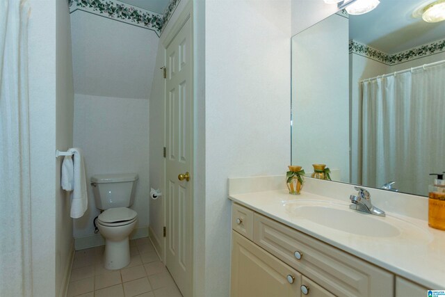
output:
M88 210L74 220L74 238L94 233L92 220L100 211L89 184L92 175L137 172L137 227L148 226L148 100L74 96L74 146L84 152Z

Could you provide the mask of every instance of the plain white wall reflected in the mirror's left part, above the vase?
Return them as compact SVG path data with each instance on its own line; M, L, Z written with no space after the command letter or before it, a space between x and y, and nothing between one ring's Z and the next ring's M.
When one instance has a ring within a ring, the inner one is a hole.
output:
M349 182L348 19L332 15L292 38L292 163Z

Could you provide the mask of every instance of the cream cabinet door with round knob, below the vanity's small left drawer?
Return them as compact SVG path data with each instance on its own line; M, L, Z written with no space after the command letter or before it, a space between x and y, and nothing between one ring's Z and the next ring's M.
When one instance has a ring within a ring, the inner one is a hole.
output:
M234 231L232 242L230 296L300 296L301 274L295 269Z

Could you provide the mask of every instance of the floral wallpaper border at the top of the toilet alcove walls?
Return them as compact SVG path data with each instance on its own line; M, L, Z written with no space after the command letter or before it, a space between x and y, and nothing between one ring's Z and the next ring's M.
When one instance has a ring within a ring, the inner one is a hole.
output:
M83 10L88 13L115 19L120 22L139 26L144 29L153 30L156 35L161 36L165 25L170 20L173 12L181 0L170 0L163 15L149 10L131 6L117 0L67 0L70 13Z

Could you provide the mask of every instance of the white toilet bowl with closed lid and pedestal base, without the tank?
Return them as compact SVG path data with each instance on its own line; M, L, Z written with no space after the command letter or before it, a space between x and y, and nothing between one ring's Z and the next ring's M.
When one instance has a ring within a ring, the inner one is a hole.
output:
M115 270L130 263L129 235L138 214L127 207L107 209L97 218L97 228L105 238L104 267Z

